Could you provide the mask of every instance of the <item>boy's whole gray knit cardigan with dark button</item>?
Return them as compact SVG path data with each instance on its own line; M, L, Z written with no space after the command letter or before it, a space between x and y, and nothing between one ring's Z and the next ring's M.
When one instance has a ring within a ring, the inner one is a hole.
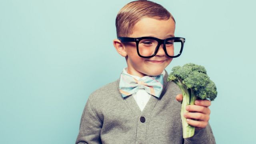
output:
M160 98L154 96L141 112L132 96L122 98L119 80L93 92L84 108L76 144L215 144L210 125L183 139L180 89L164 76Z

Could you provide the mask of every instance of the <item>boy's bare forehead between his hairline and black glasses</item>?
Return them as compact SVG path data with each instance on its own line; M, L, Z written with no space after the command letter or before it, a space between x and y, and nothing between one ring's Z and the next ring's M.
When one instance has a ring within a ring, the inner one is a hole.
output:
M175 22L172 18L168 20L158 20L154 18L142 18L133 28L130 37L154 36L165 39L174 36Z

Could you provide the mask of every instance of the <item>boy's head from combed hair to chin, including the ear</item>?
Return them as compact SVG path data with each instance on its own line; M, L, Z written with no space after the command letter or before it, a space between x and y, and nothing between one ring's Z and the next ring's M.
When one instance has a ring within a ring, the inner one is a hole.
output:
M170 52L174 30L173 16L160 4L147 0L126 4L116 16L118 39L113 44L117 52L126 58L128 73L140 77L161 74L174 57ZM139 37L150 38L134 39ZM165 48L164 39L167 39Z

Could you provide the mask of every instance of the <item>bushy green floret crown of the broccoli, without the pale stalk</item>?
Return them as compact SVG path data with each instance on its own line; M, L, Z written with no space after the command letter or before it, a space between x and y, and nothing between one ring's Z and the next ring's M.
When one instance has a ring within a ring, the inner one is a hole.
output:
M203 66L188 63L184 66L175 66L168 77L168 81L174 81L181 89L194 92L199 99L214 100L217 96L216 86L206 73Z

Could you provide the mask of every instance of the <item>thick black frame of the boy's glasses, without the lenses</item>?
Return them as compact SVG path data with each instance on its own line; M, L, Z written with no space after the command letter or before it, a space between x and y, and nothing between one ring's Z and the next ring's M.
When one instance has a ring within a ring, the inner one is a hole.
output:
M152 56L142 56L142 55L140 55L139 42L141 40L144 40L144 39L156 40L158 42L158 45L156 46L156 50L155 50L155 52ZM180 38L180 37L170 37L170 38L166 38L166 39L162 40L162 39L151 37L151 36L143 36L143 37L137 37L137 38L118 37L118 40L120 40L121 42L136 42L137 53L141 58L152 58L152 57L154 57L156 55L156 53L158 52L161 44L164 44L163 48L164 48L164 52L165 52L166 56L168 56L170 58L177 58L178 56L181 55L182 50L183 50L183 46L184 46L184 42L185 42L185 38ZM168 53L166 51L166 45L165 45L168 40L174 40L174 42L181 42L181 48L180 48L180 52L179 52L178 55L176 55L176 56L168 55Z

